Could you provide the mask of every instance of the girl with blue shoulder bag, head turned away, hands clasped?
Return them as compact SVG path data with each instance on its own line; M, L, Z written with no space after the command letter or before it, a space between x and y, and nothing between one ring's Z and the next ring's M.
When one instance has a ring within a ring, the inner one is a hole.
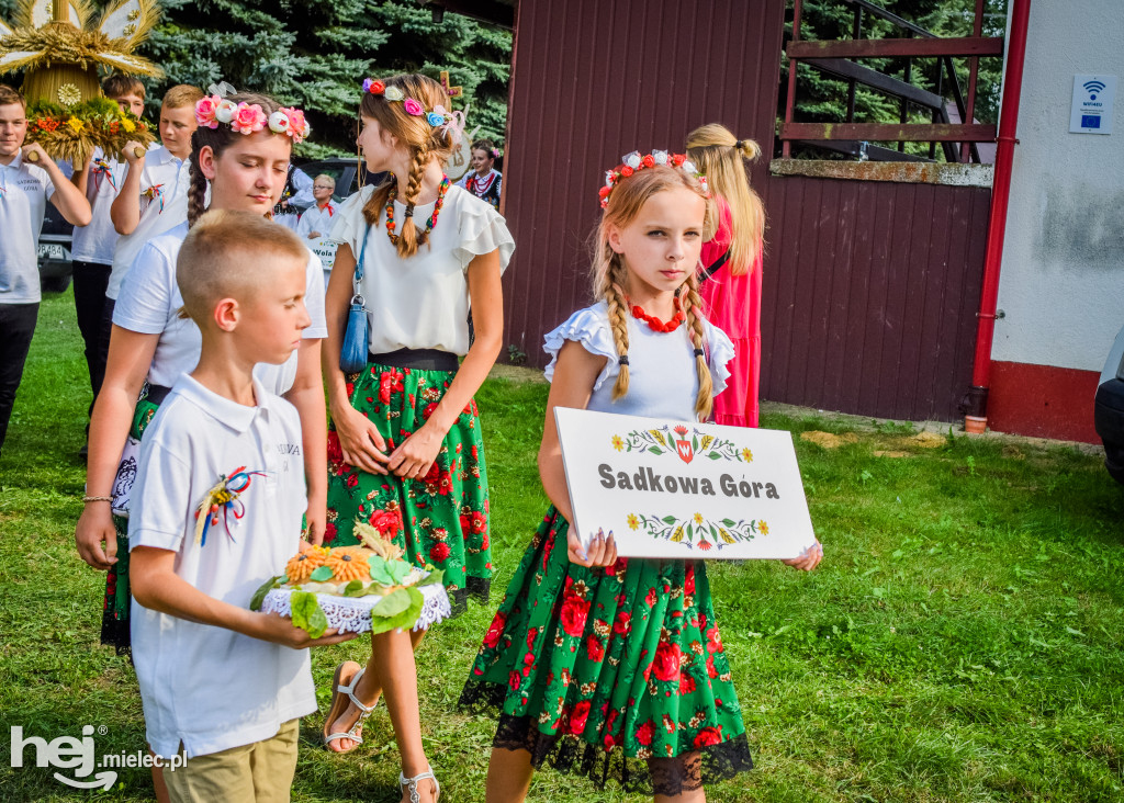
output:
M350 197L332 231L339 249L326 302L325 540L355 544L353 524L370 523L417 566L442 569L454 604L463 606L469 595L487 599L492 575L488 472L472 396L499 355L500 274L515 243L496 210L444 174L463 125L448 108L441 84L424 75L363 85L359 145L368 170L390 177ZM368 362L345 374L344 325L361 299ZM422 747L413 653L420 637L375 636L365 669L341 664L324 727L329 749L354 749L384 690L404 800L414 803L437 793Z

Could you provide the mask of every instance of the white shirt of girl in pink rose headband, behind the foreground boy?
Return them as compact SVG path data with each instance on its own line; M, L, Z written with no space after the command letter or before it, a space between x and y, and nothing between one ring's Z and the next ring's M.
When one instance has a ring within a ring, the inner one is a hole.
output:
M202 349L202 335L193 320L180 318L183 296L175 282L175 258L183 238L188 236L187 221L140 249L133 268L121 286L120 298L114 307L114 323L144 335L160 335L156 352L148 368L148 382L171 387L180 376L194 369ZM328 336L324 319L324 271L320 261L309 252L305 268L305 307L312 323L302 332L305 339ZM281 365L259 363L254 376L271 393L281 395L292 387L297 378L297 353Z

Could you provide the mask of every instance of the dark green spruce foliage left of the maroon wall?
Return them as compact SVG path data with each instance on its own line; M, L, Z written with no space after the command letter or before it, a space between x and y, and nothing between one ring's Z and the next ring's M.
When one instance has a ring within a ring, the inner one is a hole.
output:
M166 76L145 80L155 116L164 90L226 81L303 108L309 157L353 153L360 83L366 76L447 70L472 107L469 130L502 140L511 33L455 13L433 21L415 0L162 0L164 16L138 52ZM0 0L10 15L11 0ZM103 7L106 0L96 0Z

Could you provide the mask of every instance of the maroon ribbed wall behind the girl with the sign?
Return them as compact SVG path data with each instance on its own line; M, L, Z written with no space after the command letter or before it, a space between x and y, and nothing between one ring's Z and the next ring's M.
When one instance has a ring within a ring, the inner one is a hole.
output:
M507 343L589 302L604 172L723 122L772 152L783 0L519 0L505 156ZM971 376L988 190L768 175L762 398L952 420Z

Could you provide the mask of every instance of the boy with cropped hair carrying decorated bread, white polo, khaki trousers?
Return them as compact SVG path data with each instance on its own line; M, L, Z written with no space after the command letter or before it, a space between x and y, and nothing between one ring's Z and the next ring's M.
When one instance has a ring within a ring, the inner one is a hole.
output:
M298 719L316 710L302 648L353 636L314 640L247 608L301 542L300 419L253 368L300 345L307 263L293 232L225 210L199 219L176 262L202 353L145 432L129 515L133 660L173 801L288 801ZM200 507L215 511L201 539ZM185 764L167 768L174 755Z

